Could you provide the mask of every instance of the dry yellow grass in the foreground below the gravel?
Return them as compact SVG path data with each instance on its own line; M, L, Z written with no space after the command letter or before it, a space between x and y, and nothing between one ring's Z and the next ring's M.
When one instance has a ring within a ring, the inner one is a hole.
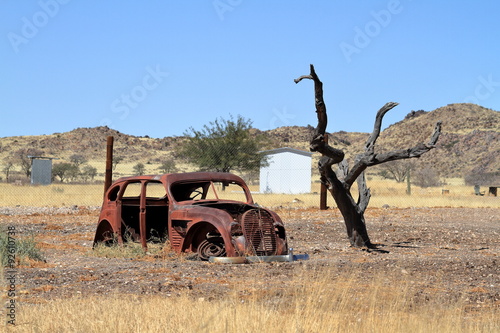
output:
M412 281L383 273L367 279L304 267L294 279L292 287L271 290L249 281L217 299L111 293L22 304L9 331L497 332L500 325L498 307L445 295L419 299Z

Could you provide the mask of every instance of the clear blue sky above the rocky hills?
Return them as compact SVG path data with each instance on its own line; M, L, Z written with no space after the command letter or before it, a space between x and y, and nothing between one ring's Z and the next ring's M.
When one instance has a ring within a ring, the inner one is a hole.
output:
M0 137L108 125L182 135L242 115L262 130L369 132L386 102L500 110L498 1L0 2Z

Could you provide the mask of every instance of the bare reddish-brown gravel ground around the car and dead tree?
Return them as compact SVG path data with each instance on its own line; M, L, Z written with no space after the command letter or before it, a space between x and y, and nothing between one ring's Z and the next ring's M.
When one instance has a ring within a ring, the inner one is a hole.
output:
M369 209L368 231L384 252L349 247L337 211L282 209L289 245L311 259L294 263L210 264L166 253L140 259L96 257L91 245L98 211L0 215L18 237L34 234L46 263L17 267L20 301L44 303L70 296L190 293L213 298L251 281L252 288L294 283L304 267L332 275L357 271L410 280L423 298L436 292L474 304L500 306L500 209ZM241 288L240 288L241 289Z

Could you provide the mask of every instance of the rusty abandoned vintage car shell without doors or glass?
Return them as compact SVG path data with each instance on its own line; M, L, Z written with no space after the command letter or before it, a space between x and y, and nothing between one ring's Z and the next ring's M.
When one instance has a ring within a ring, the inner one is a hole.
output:
M243 179L191 172L124 177L106 191L94 246L168 239L180 252L210 257L288 253L280 217L253 202Z

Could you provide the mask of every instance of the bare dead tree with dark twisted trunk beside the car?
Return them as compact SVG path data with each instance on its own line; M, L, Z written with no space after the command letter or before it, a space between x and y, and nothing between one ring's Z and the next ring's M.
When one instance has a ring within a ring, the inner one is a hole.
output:
M365 151L356 156L353 167L349 169L347 161L344 160L344 152L325 143L324 136L327 126L327 114L326 105L323 100L323 83L316 75L313 65L310 66L309 75L303 75L294 81L295 83L299 83L303 79L314 81L318 126L310 141L310 150L319 152L323 155L318 163L321 182L327 186L344 218L347 236L349 237L351 245L356 247L376 248L368 237L364 218L364 212L370 201L370 189L366 185L364 171L370 166L389 161L418 158L432 148L435 148L436 142L441 134L441 122L436 123L434 132L428 143L418 143L414 147L408 149L399 149L379 154L375 152L375 142L380 135L382 119L389 110L398 105L398 103L394 102L385 104L377 112L373 132L365 143ZM337 177L337 174L332 169L334 164L338 164L339 177ZM351 195L351 186L356 180L359 192L357 201L355 201Z

